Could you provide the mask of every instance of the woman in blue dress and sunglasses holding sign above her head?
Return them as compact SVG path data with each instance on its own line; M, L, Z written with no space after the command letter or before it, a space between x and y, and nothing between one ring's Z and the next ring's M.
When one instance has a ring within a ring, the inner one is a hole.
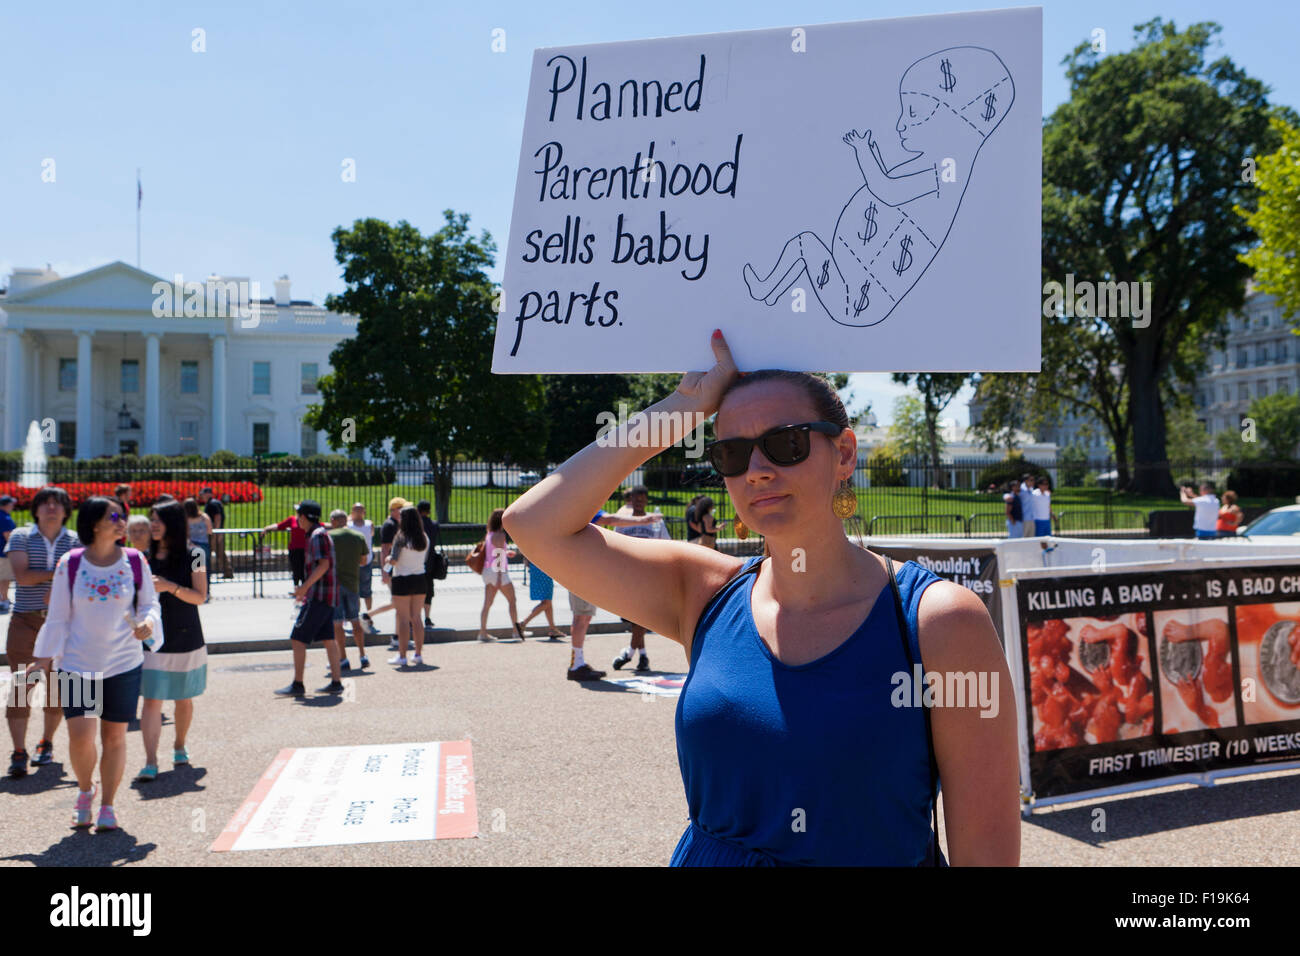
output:
M620 480L680 434L593 442L504 518L566 588L686 652L676 727L690 826L673 865L937 862L936 765L952 861L1017 864L1014 700L988 611L914 562L897 568L894 587L893 566L845 536L832 502L857 441L824 380L741 377L720 332L712 351L712 368L688 373L649 411L718 414L710 460L771 557L589 527ZM920 682L913 693L922 667L988 674L992 706L983 717L916 706L933 700Z

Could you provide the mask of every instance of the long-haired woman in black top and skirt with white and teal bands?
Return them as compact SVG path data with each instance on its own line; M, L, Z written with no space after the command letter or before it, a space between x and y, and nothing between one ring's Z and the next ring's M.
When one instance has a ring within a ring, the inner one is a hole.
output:
M208 648L203 641L199 605L208 598L207 555L186 541L186 512L174 501L150 509L150 567L159 592L166 646L144 656L140 693L140 736L144 739L144 769L136 780L159 775L159 740L162 736L162 701L176 701L176 744L172 765L187 766L185 745L194 721L194 698L208 685Z

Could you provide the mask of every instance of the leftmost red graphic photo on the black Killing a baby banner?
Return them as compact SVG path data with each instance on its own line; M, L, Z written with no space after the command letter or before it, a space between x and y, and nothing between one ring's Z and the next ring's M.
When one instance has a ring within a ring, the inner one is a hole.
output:
M1145 614L1032 623L1027 644L1035 752L1154 731Z

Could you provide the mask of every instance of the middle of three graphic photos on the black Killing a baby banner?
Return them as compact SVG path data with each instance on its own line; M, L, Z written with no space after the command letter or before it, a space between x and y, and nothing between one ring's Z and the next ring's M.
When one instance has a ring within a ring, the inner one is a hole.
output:
M1227 607L1154 611L1160 732L1236 726Z

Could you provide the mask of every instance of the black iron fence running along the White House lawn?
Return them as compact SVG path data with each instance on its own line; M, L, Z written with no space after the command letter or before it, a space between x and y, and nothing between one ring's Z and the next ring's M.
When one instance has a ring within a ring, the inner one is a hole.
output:
M234 459L198 457L160 459L121 457L112 459L51 459L42 476L14 453L0 454L0 493L18 498L14 519L30 520L26 506L40 484L57 483L77 501L91 494L112 493L130 484L133 510L153 503L160 494L199 497L204 488L222 499L225 510L225 555L213 554L213 583L251 580L264 589L268 580L287 580L289 532L276 529L294 515L304 498L317 501L328 515L334 509L350 511L360 503L374 525L389 514L389 502L426 499L441 524L443 550L451 555L452 574L468 571L463 555L482 538L489 515L507 507L546 470L517 464L458 462L451 470L450 493L439 499L433 470L422 462L352 460L341 457L307 459ZM1234 464L1222 459L1178 462L1167 468L1182 484L1213 483L1218 492L1235 489L1247 514L1253 516L1277 505L1292 503L1300 494L1300 467L1294 463ZM1160 511L1190 509L1173 489L1164 496L1138 496L1118 490L1126 476L1113 459L1004 459L962 458L942 462L940 468L922 458L887 459L863 451L853 476L858 518L871 535L944 535L958 537L1006 533L1002 494L1011 477L1024 473L1046 476L1054 489L1053 532L1058 535L1161 535L1180 528L1182 522L1152 525ZM714 502L720 535L729 536L734 509L725 485L707 464L671 463L666 457L647 462L628 476L649 489L650 510L660 511L672 537L686 537L685 511L698 496ZM445 489L446 490L446 489ZM604 503L615 510L624 492ZM226 578L226 572L230 578ZM277 585L278 587L278 585Z

